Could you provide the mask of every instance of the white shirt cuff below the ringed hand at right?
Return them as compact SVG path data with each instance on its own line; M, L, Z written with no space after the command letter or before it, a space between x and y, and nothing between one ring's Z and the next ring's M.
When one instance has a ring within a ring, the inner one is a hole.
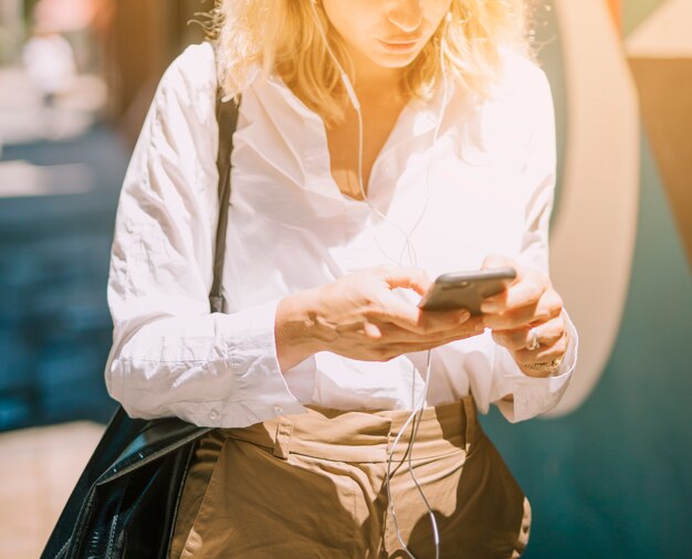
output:
M502 414L511 423L517 423L552 410L562 399L569 384L577 362L579 339L569 316L563 310L563 319L569 342L559 369L546 378L525 375L514 361L512 354L496 346L495 368L504 371L493 390L493 401ZM506 395L514 397L513 402L502 400Z

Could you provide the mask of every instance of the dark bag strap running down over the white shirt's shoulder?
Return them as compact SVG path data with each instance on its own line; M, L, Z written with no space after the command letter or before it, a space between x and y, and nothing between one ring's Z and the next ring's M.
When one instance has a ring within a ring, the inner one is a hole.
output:
M223 313L223 293L221 278L226 256L226 233L228 230L228 212L231 203L231 154L233 151L233 133L238 125L240 97L223 101L221 89L217 92L217 123L219 124L219 152L217 169L219 170L219 224L213 257L213 283L209 292L209 305L212 313Z

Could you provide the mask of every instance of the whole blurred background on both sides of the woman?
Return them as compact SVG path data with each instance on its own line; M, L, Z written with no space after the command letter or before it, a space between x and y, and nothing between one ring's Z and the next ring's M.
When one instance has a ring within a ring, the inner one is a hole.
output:
M692 528L692 0L542 1L552 239L580 331L548 418L484 424L531 558L683 558ZM0 557L43 548L115 409L106 280L129 152L200 0L0 0Z

